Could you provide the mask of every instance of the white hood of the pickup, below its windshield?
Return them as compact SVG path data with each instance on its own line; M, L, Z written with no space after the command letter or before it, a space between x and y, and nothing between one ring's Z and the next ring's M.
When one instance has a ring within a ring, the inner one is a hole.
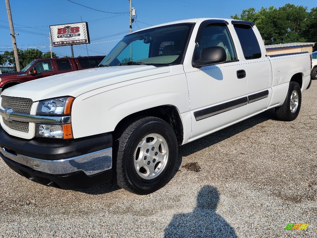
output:
M150 65L84 69L21 83L4 90L1 95L30 98L33 102L61 96L77 97L94 89L170 71L170 66Z

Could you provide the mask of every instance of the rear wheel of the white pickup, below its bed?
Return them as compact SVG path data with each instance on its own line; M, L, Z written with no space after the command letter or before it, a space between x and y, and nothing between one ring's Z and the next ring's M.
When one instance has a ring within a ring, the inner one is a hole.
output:
M281 121L293 121L301 109L301 87L296 82L290 82L288 93L283 105L275 108L275 115Z

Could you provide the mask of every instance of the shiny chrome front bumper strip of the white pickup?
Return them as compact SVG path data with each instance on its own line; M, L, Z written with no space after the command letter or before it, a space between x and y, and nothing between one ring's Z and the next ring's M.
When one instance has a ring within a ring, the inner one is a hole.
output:
M62 175L83 171L86 175L94 175L112 169L112 148L61 160L43 160L24 155L12 154L5 148L0 148L0 156L25 165L36 171Z

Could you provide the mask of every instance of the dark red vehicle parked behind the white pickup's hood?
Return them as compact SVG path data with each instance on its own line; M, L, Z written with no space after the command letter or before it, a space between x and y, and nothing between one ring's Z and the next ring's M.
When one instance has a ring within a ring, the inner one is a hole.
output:
M96 67L105 56L39 59L29 63L20 72L0 74L0 93L13 85L55 74Z

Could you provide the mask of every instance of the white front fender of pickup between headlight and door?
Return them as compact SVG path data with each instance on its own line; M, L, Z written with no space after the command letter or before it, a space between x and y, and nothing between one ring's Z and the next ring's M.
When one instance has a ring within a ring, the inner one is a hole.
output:
M180 113L189 111L187 81L181 65L176 65L168 76L151 76L141 82L88 95L91 92L78 96L73 102L74 138L111 132L126 116L161 105L173 105Z

